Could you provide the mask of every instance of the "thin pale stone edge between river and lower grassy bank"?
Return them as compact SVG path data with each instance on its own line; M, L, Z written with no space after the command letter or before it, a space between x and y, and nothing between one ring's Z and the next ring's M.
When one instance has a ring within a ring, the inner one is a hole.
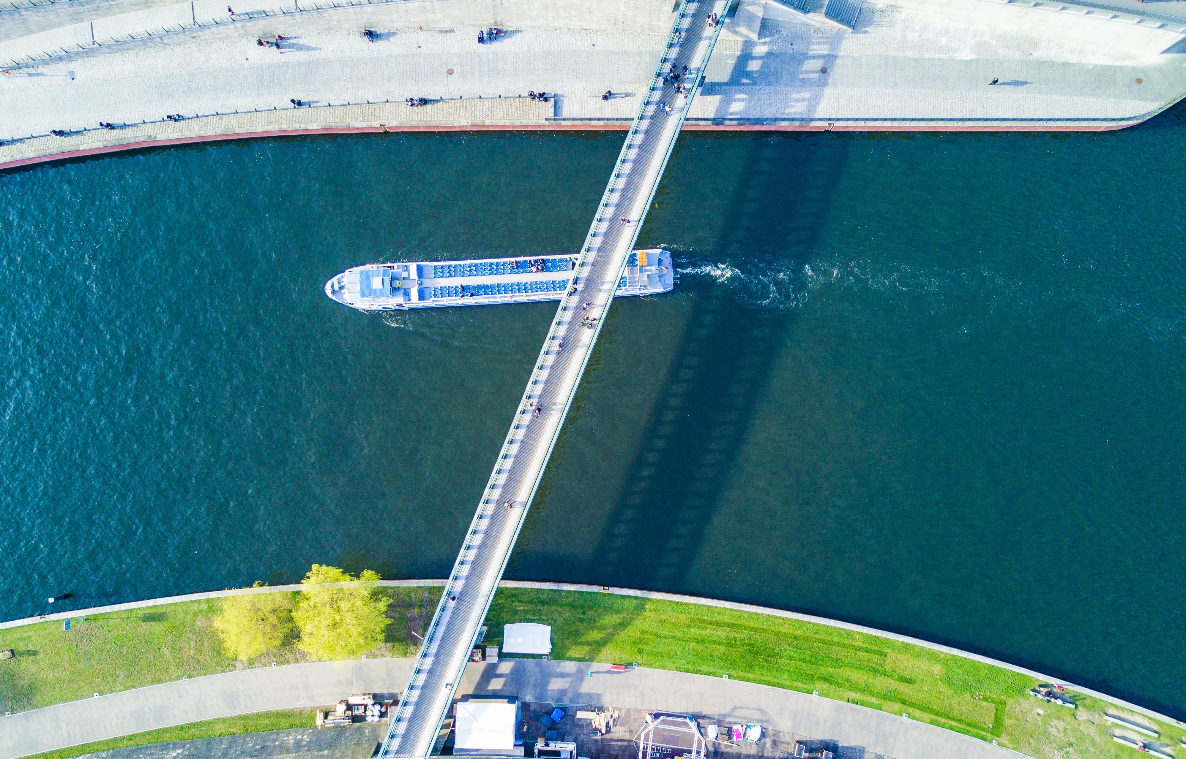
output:
M381 587L444 587L447 580L380 580L377 585ZM355 583L331 583L331 587L345 587L355 585ZM57 622L62 619L88 617L93 615L111 613L116 611L127 611L130 609L146 609L149 606L164 606L167 604L181 604L192 600L205 600L210 598L225 598L227 596L247 596L251 593L279 593L285 591L299 591L302 585L266 585L261 587L237 587L229 588L224 591L208 591L204 593L189 593L186 596L170 596L166 598L149 598L146 600L129 602L126 604L113 604L110 606L95 606L91 609L76 609L74 611L62 611L51 615L43 615L40 617L26 617L24 619L12 619L9 622L0 622L0 630L6 630L11 628L20 628L31 624L38 624L42 622ZM951 656L959 656L962 658L970 658L983 664L990 664L993 667L1000 667L1001 669L1007 669L1009 671L1019 673L1042 682L1050 682L1060 684L1064 688L1070 688L1077 690L1084 695L1091 696L1093 699L1099 699L1112 706L1118 706L1124 709L1131 709L1137 714L1143 714L1144 716L1152 718L1154 720L1161 720L1167 725L1177 725L1178 727L1186 727L1186 722L1181 720L1175 720L1172 716L1161 714L1160 712L1154 712L1153 709L1147 709L1142 706L1130 703L1122 699L1116 699L1107 693L1099 693L1091 688L1085 688L1083 686L1075 684L1061 677L1054 677L1053 675L1045 675L1032 669L1026 669L1025 667L1018 667L1016 664L1009 664L1008 662L1002 662L988 656L981 656L980 654L973 654L971 651L963 651L959 649L951 648L950 645L940 645L938 643L931 643L929 641L923 641L920 638L912 638L906 635L898 635L897 632L888 632L886 630L878 630L876 628L866 628L865 625L852 624L849 622L842 622L840 619L828 619L825 617L816 617L812 615L803 615L797 611L785 611L782 609L770 609L769 606L755 606L753 604L739 604L731 600L721 600L718 598L702 598L700 596L681 596L678 593L659 593L655 591L640 591L631 587L610 587L605 585L582 585L578 583L533 583L528 580L502 580L498 587L515 587L515 588L527 588L527 590L546 590L546 591L570 591L579 593L611 593L613 596L630 596L633 598L652 598L655 600L669 600L681 604L696 604L700 606L715 606L718 609L733 609L737 611L745 611L754 615L766 615L771 617L782 617L784 619L797 619L799 622L810 622L812 624L827 625L829 628L839 628L842 630L852 630L854 632L862 632L865 635L873 635L879 638L886 638L890 641L898 641L900 643L908 643L911 645L918 645L920 648L931 649L932 651L940 651L943 654L950 654Z

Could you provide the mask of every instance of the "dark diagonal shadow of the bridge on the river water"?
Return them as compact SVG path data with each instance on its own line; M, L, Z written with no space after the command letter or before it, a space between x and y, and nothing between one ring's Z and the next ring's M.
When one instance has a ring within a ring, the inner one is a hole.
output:
M745 259L746 265L759 269L802 271L827 217L852 139L686 135L682 142L694 150L681 159L677 149L671 168L696 161L732 161L729 172L738 181L729 187L732 197L727 201L697 197L718 192L713 189L671 191L681 195L678 205L703 201L719 207L722 219L716 239L704 242L706 250L700 255L681 255L676 249L676 265L687 270ZM710 172L701 167L691 173ZM669 176L664 184L677 181ZM661 188L658 197L663 194ZM672 212L678 213L674 204ZM662 208L652 213L652 221L659 226L672 224L663 218ZM644 230L639 247L648 246L646 236ZM553 557L548 573L565 567L568 577L548 579L668 592L687 591L694 585L689 572L702 545L710 540L714 513L793 314L746 304L734 290L697 275L684 275L680 291L690 296L690 313L665 375L653 378L663 391L637 438L624 484L585 566L555 561L559 557ZM598 353L614 350L611 346L602 343ZM607 358L595 354L591 369ZM528 573L538 574L530 570ZM625 602L629 609L616 604L625 616L616 616L607 629L582 637L581 644L593 661L600 661L598 654L645 604L642 599Z

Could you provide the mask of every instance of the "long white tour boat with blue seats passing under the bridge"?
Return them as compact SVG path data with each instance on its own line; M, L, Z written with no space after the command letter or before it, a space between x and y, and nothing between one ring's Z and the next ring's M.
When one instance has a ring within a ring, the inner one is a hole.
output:
M573 287L575 266L575 256L368 264L326 282L325 294L362 311L559 301ZM614 297L667 292L674 284L670 251L637 250Z

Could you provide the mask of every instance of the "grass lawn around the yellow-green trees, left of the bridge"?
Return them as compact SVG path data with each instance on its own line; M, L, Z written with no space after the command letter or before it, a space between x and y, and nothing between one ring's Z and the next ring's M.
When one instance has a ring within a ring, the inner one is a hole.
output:
M380 590L393 598L391 625L371 655L414 655L420 643L410 630L423 632L440 588ZM307 661L292 641L256 661L228 658L211 628L221 605L211 599L97 615L76 619L68 632L60 622L0 630L0 649L17 651L17 658L0 661L0 709L25 712L183 676Z

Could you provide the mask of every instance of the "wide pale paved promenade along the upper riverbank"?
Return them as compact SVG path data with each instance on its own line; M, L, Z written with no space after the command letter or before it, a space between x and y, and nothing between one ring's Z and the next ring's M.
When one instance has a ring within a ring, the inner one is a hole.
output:
M497 12L461 0L318 11L278 2L236 6L234 20L225 4L209 1L76 0L13 11L0 2L0 59L27 59L0 76L0 168L248 136L625 130L671 19L662 0L505 0ZM1149 17L1174 4L1105 13L1098 2L1052 12L887 0L865 2L852 31L820 26L776 0L740 5L686 129L1108 130L1186 94L1186 47L1175 31L1186 26ZM167 22L186 13L196 21ZM477 30L490 25L506 28L505 38L478 45ZM359 36L364 27L378 30L375 43ZM255 44L275 33L288 46ZM57 52L37 52L46 49ZM549 102L485 103L528 90L547 91ZM606 90L610 101L600 97ZM442 98L447 108L402 107L408 97ZM315 107L293 109L296 98Z

